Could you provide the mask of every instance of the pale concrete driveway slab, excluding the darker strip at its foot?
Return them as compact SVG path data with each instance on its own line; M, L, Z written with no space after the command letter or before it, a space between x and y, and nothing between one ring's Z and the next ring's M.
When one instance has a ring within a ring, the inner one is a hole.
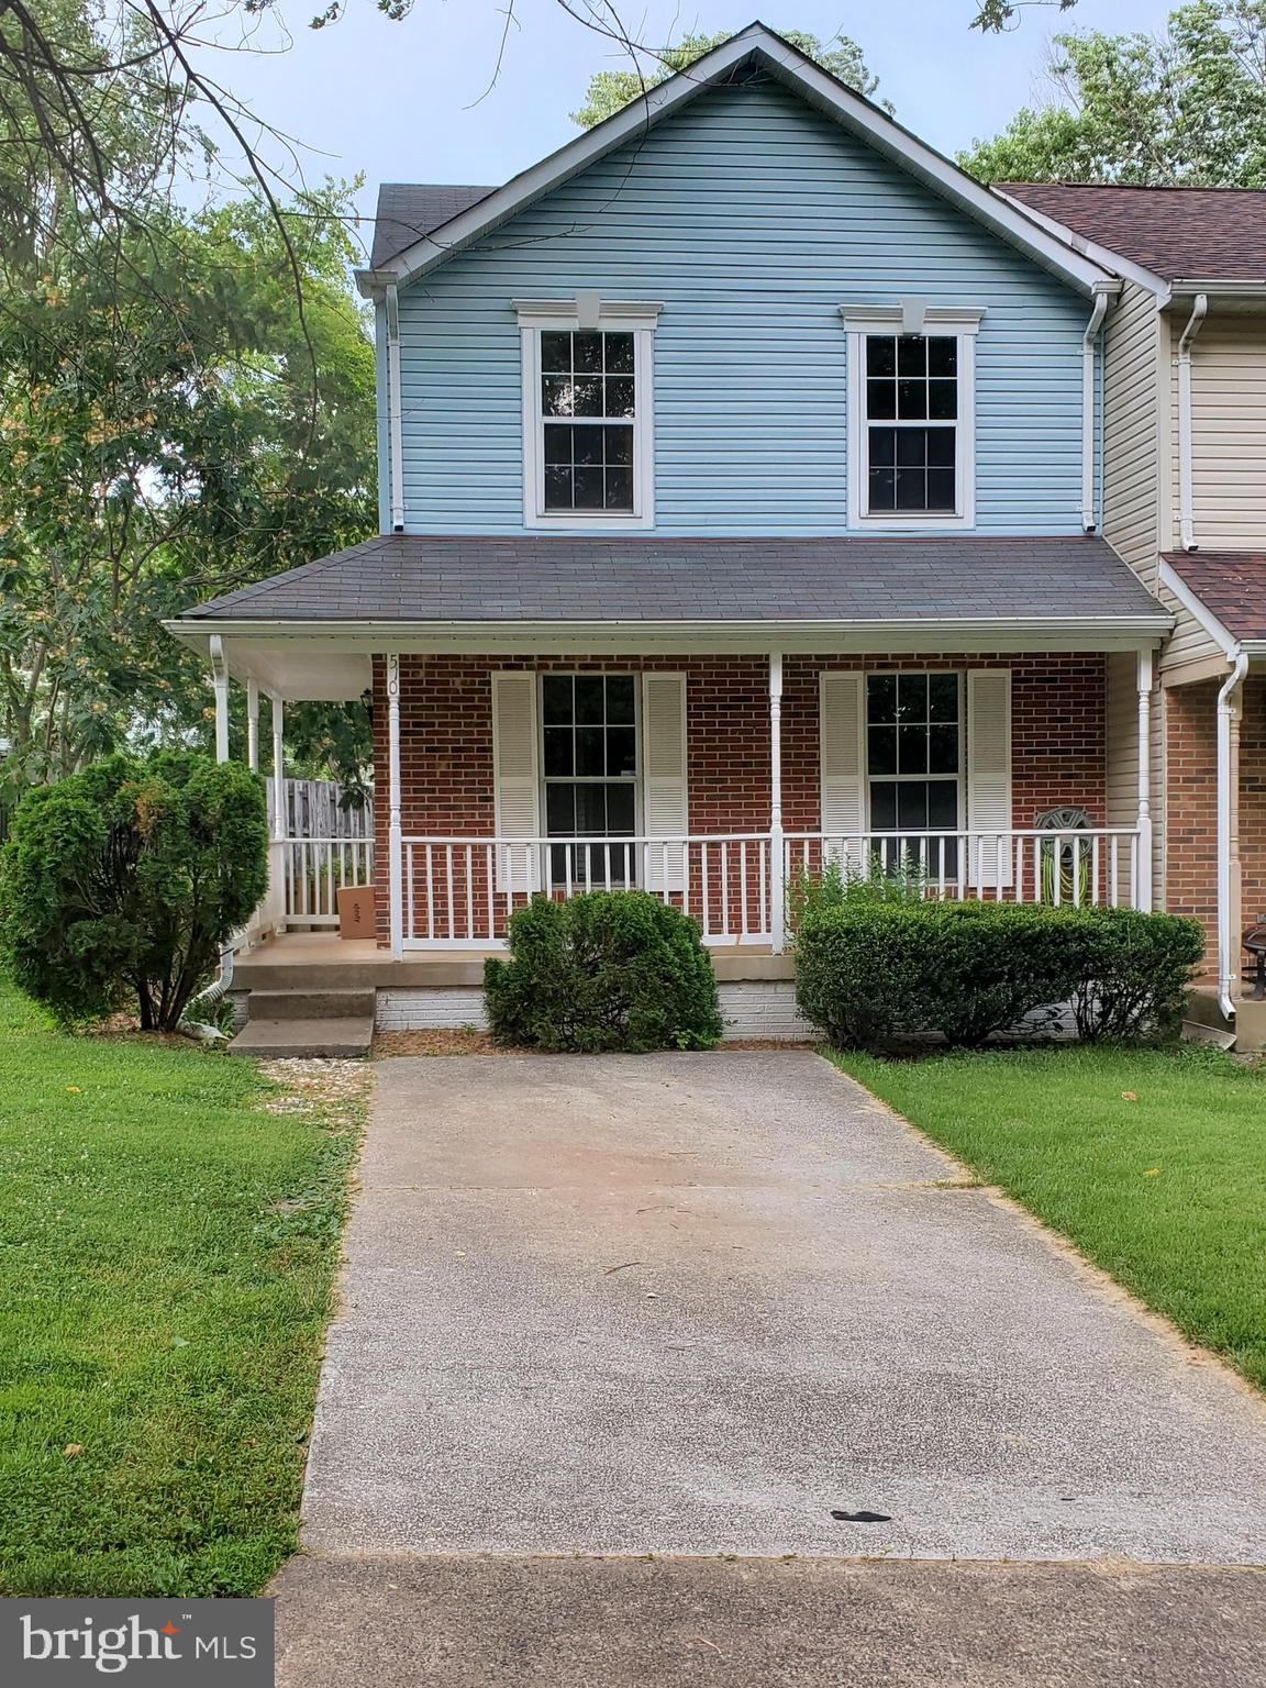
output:
M1266 1560L1258 1398L815 1055L383 1062L361 1177L309 1553Z

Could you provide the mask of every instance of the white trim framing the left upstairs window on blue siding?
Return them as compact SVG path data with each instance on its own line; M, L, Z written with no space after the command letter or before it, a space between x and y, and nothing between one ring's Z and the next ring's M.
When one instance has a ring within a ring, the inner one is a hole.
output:
M601 528L621 533L655 527L655 408L653 341L663 309L657 300L599 299L517 299L523 343L523 527L552 532ZM633 513L604 510L545 511L545 417L540 408L540 336L599 329L633 336L633 380L638 414L633 419Z

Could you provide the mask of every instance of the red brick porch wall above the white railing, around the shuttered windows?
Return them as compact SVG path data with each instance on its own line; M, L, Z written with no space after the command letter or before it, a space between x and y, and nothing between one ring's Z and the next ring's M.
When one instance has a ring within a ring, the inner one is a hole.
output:
M1099 655L793 657L783 672L783 822L819 824L819 674L822 668L1006 667L1013 674L1013 824L1077 805L1104 822L1106 660ZM768 665L763 657L400 658L400 771L405 836L493 830L491 674L496 668L687 675L690 832L758 832L770 825ZM385 662L375 658L375 803L378 861L387 863ZM385 871L378 932L387 939ZM461 886L456 898L464 893Z

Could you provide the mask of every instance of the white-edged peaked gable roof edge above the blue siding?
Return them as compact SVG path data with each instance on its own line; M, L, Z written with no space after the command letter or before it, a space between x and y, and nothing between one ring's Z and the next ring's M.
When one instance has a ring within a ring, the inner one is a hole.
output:
M1111 270L1074 250L1003 194L984 187L947 157L912 135L895 118L854 88L824 71L820 64L783 41L765 24L746 29L712 47L685 71L679 71L613 116L569 140L540 164L515 176L503 187L454 213L371 270L358 270L356 282L366 297L380 297L388 285L405 287L444 263L454 252L500 228L550 189L571 181L587 165L606 157L626 140L645 133L674 111L697 100L707 88L729 81L746 66L760 66L792 93L841 123L863 142L922 181L957 209L982 223L1001 240L1058 275L1084 294L1112 290ZM376 241L375 241L376 246Z

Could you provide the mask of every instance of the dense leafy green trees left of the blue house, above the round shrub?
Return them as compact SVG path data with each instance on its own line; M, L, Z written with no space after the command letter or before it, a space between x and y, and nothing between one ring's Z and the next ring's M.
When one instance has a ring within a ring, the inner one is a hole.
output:
M289 208L300 329L258 201L44 255L0 311L0 738L8 785L201 731L160 628L373 523L373 351L341 191ZM62 262L59 262L62 260ZM12 273L12 272L10 272ZM316 348L312 385L309 348Z

